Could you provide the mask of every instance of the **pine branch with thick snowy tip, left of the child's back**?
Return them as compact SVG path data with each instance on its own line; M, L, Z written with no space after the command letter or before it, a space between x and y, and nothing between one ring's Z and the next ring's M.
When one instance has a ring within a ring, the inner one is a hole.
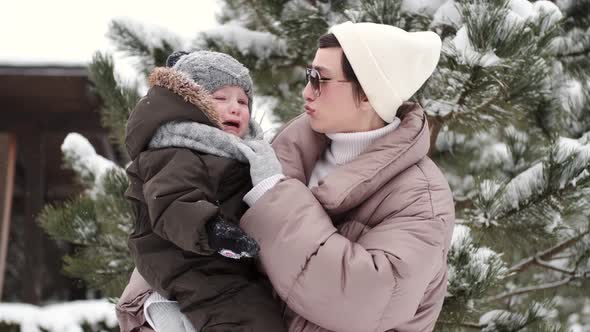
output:
M55 240L76 245L75 253L64 257L68 275L84 279L107 296L119 296L133 269L126 244L133 219L124 197L125 171L76 133L65 138L62 151L87 189L67 202L47 205L40 224Z

